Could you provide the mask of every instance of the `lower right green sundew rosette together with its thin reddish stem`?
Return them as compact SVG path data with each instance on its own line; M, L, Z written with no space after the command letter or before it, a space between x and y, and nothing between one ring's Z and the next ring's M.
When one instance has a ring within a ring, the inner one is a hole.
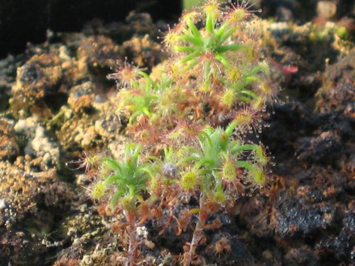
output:
M244 196L246 184L262 187L266 183L268 158L259 145L234 140L235 127L233 122L225 130L207 126L200 132L196 147L183 147L185 155L178 165L187 170L181 174L180 186L199 195L200 214L208 216L212 210L225 209L226 204L233 206L238 196ZM195 233L202 234L204 223L205 219L197 222L192 242ZM190 265L195 249L190 245L185 252L184 265Z

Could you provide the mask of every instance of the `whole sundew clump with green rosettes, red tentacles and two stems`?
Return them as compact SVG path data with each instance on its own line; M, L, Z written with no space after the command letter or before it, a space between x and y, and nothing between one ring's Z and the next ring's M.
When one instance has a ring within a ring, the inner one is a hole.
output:
M192 227L176 255L182 265L196 265L204 231L221 226L208 218L267 184L266 149L246 140L261 131L261 113L275 99L255 12L245 1L205 1L169 27L163 45L170 57L150 74L126 61L109 74L118 89L116 115L127 121L132 143L120 158L96 158L90 191L107 214L122 217L113 228L124 265L143 261L137 230L148 221L177 235Z

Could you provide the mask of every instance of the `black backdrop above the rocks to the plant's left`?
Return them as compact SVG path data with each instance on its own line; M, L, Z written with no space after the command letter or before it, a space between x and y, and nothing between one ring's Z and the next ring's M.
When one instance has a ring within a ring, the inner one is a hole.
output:
M124 21L129 11L146 11L154 20L180 16L180 0L0 0L0 58L43 43L46 31L80 31L87 21Z

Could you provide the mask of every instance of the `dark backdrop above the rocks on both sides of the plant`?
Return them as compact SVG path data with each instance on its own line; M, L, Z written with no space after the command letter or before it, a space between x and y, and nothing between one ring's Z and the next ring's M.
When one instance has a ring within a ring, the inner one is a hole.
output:
M237 1L237 0L232 0ZM241 0L239 0L241 1ZM320 0L261 0L263 18L275 21L294 21L302 24L317 16ZM103 22L124 21L129 11L148 12L155 21L177 21L182 0L0 0L0 58L9 53L23 52L26 43L43 43L46 31L81 31L88 21L99 18ZM251 0L253 2L253 0ZM354 0L334 0L337 15L355 18ZM354 32L355 26L350 25Z

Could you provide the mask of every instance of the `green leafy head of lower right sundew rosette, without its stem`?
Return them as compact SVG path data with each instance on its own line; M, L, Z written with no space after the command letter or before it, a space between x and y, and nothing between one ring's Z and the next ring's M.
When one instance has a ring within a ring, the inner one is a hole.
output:
M198 189L202 194L213 194L222 189L223 180L234 181L234 177L240 174L238 168L249 172L268 164L268 156L260 145L244 144L233 139L234 126L231 123L226 130L207 126L200 132L197 147L182 148L185 155L178 165L189 167L190 163L191 169L200 173ZM241 176L238 178L241 180Z

